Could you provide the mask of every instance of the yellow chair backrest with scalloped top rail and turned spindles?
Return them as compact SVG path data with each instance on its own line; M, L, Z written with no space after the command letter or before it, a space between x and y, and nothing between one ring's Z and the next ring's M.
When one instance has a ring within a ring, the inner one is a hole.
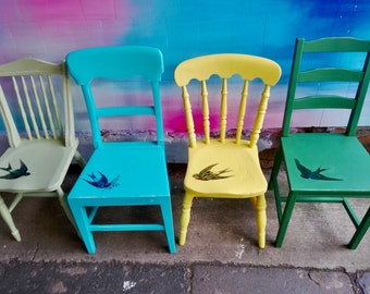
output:
M196 147L195 120L192 111L192 103L187 86L192 79L197 79L201 84L201 109L202 109L202 128L205 143L209 144L210 135L210 110L208 98L208 81L212 75L221 78L221 103L220 103L220 142L225 142L227 131L227 79L234 75L239 75L243 78L240 89L240 100L238 103L238 118L236 124L232 128L236 128L235 142L240 143L242 131L246 115L246 103L248 96L249 82L255 78L260 78L264 85L261 90L261 98L257 115L255 118L252 131L249 138L249 146L255 146L259 138L259 133L263 124L264 113L270 97L270 87L275 85L281 76L281 69L272 60L235 53L210 54L197 57L186 60L177 65L174 73L174 78L177 86L182 87L183 102L185 109L186 124L189 137L189 146ZM213 98L212 98L213 99ZM194 106L195 103L193 103Z

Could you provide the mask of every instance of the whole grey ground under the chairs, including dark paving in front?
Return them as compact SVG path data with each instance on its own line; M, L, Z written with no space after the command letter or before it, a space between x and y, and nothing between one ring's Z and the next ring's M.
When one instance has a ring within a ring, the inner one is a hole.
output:
M183 164L169 167L176 236L184 171ZM66 191L78 173L77 167L70 170ZM10 198L4 195L8 204ZM257 247L248 200L196 199L187 242L176 254L168 253L162 232L100 232L97 253L89 255L57 199L24 199L13 211L22 242L0 221L0 293L370 294L370 234L348 249L355 228L341 205L299 204L283 247L275 248L271 192L267 200L264 249ZM353 204L361 217L370 201ZM160 219L159 209L148 207L99 213L104 220Z

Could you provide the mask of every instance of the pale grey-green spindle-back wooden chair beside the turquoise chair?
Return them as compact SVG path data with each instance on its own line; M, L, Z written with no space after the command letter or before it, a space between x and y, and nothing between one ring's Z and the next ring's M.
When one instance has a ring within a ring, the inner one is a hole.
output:
M15 194L0 213L16 241L11 212L23 197L59 197L74 224L61 187L77 151L72 99L64 63L23 59L0 65L0 113L9 148L0 157L0 193Z

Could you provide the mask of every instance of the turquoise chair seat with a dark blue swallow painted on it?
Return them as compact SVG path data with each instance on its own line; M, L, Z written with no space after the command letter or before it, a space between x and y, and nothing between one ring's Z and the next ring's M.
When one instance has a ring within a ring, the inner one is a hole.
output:
M100 188L96 186L99 181ZM144 198L150 197L151 204L156 204L155 198L169 195L162 148L150 143L131 147L127 143L109 143L94 151L69 200L82 200L84 206L140 205Z

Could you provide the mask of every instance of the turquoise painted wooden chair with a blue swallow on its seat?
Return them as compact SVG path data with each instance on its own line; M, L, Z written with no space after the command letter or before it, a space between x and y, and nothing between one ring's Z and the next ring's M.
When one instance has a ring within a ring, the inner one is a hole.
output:
M164 231L170 253L175 253L159 91L163 73L161 52L149 47L87 48L69 53L66 63L82 87L94 142L94 152L67 199L87 252L96 252L92 237L96 231ZM125 89L121 96L124 102L119 102L118 96L107 98L108 90L99 95L100 86L112 81L122 82L114 91ZM130 81L133 84L127 84ZM137 94L137 85L144 82L152 95L134 99L130 91ZM146 127L144 131L148 130L144 121L149 120L149 125L157 127L157 136L148 140L106 142L101 133L103 123L114 120L114 130L122 130L119 118L128 118L133 124L139 122ZM95 223L98 208L104 206L159 206L163 223Z

